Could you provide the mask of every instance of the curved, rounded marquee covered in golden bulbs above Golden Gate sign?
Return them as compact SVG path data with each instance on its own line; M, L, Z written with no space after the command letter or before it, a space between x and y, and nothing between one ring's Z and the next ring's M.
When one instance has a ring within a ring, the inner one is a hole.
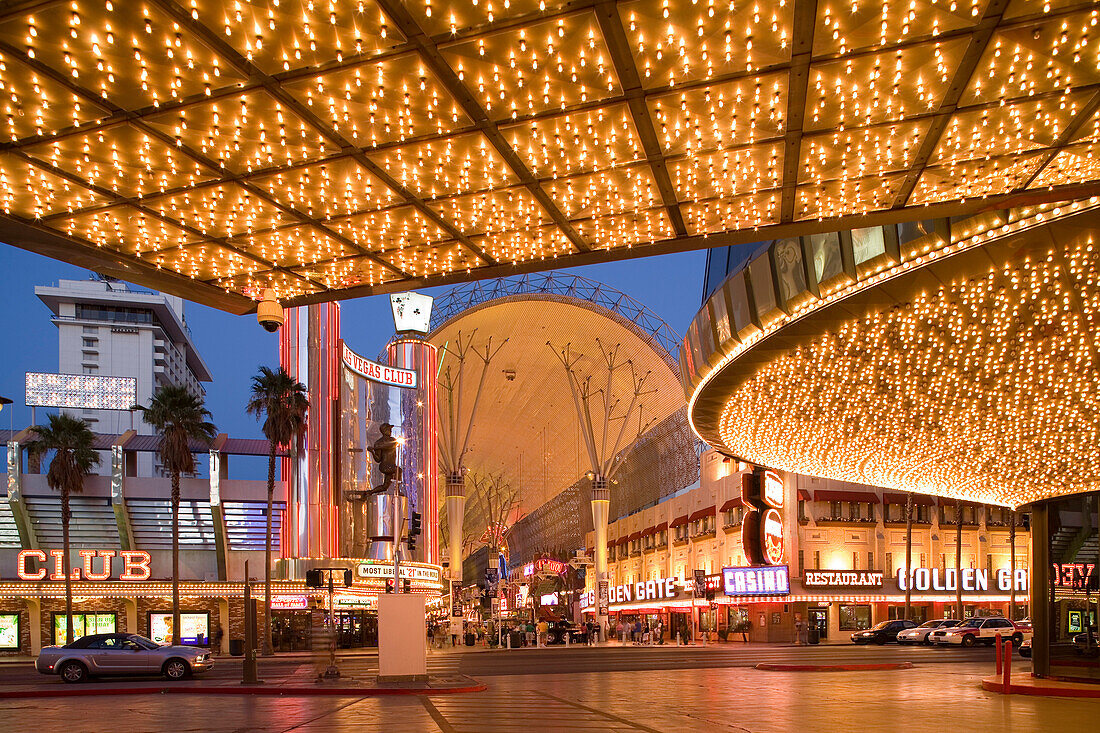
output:
M1100 199L947 228L739 336L719 314L695 429L765 466L965 500L1100 488Z

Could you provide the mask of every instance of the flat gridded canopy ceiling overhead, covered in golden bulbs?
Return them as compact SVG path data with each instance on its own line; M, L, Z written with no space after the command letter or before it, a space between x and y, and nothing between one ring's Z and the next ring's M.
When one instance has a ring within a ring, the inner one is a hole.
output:
M1098 13L3 2L0 236L244 311L1087 197Z

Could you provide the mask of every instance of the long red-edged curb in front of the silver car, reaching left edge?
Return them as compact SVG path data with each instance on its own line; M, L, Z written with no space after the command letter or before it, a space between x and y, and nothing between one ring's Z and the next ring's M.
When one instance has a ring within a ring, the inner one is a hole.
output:
M488 686L484 682L469 685L465 687L438 687L429 689L416 688L361 688L361 687L265 687L262 685L240 686L240 687L110 687L100 689L46 689L0 692L0 700L14 700L25 698L85 698L94 696L113 694L260 694L268 697L318 697L318 696L341 696L353 698L373 698L394 694L462 694L466 692L484 692Z

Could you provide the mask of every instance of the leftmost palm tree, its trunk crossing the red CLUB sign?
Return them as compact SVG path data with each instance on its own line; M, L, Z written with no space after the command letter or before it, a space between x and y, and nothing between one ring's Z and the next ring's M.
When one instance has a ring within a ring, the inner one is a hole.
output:
M99 453L91 449L92 434L86 420L70 415L51 415L50 425L35 425L38 439L32 444L32 455L41 457L47 450L54 451L46 472L46 483L62 494L62 571L65 573L65 644L75 637L73 633L73 583L69 577L68 525L73 518L69 496L84 491L84 478L99 463Z

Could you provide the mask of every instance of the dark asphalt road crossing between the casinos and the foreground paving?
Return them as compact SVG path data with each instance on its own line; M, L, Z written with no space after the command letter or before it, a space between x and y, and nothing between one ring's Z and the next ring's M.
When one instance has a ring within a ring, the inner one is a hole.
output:
M713 669L772 664L875 664L912 661L916 665L957 663L992 664L988 648L934 648L898 646L782 646L773 644L722 644L707 647L604 646L496 652L432 652L428 657L431 675L463 674L471 677L498 675L550 675L569 672L635 671L647 669ZM260 676L289 677L310 667L309 655L287 655L260 659ZM372 654L341 656L345 674L366 676L377 670ZM240 658L219 658L201 680L240 679ZM0 686L43 682L45 678L30 664L0 665ZM59 680L58 680L58 683Z

